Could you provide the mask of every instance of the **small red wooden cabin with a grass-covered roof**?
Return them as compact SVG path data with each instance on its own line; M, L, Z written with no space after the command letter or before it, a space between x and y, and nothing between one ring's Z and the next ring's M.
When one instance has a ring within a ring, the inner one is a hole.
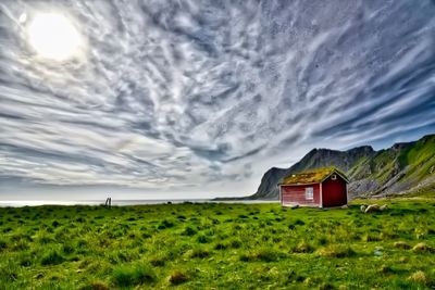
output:
M347 204L349 180L335 167L318 168L285 177L279 184L283 206L334 207Z

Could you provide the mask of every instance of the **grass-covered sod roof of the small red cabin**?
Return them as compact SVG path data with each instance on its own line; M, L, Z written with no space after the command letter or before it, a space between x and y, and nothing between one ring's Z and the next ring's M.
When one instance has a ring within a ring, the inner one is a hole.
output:
M348 181L346 175L341 173L336 167L323 167L311 171L306 171L297 174L291 174L283 178L279 185L309 185L318 184L325 180L332 174L337 174L341 176L346 181Z

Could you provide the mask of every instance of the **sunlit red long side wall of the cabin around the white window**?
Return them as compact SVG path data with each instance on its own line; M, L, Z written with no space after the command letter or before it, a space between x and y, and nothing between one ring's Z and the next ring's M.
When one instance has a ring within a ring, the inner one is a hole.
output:
M306 188L313 188L313 199L306 199ZM281 204L299 204L319 206L320 204L320 185L308 186L281 186Z

